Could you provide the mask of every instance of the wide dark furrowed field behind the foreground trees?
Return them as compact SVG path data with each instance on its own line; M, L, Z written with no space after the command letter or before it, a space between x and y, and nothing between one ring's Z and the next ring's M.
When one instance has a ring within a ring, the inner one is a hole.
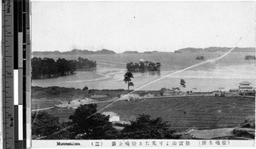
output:
M98 104L98 109L106 103ZM67 121L73 110L49 110ZM242 97L175 97L143 101L117 101L102 112L116 112L120 120L134 120L139 114L162 117L174 129L216 129L236 127L254 117L255 99Z

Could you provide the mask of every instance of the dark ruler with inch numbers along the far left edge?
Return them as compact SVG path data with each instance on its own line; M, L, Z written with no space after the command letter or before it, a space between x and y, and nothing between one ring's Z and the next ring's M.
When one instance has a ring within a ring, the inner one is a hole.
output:
M15 148L13 6L13 1L2 1L3 149Z

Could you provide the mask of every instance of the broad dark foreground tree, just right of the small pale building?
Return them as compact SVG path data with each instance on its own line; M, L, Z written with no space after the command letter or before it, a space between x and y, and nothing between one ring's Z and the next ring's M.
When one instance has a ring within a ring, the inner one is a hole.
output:
M152 119L149 115L143 114L121 130L119 139L174 139L174 132L161 117Z

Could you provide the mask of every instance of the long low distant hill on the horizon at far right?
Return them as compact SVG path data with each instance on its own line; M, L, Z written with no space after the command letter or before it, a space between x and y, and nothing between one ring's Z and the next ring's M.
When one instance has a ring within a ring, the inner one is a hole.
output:
M178 50L174 51L174 53L227 52L230 49L231 48L228 48L228 47L209 47L206 49L185 48L185 49L178 49ZM238 48L238 47L236 47L232 52L255 52L255 48Z

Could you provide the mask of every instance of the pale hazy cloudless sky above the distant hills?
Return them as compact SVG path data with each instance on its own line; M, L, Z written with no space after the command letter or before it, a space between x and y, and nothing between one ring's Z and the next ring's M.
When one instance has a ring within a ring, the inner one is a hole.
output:
M254 46L253 2L32 2L32 51Z

